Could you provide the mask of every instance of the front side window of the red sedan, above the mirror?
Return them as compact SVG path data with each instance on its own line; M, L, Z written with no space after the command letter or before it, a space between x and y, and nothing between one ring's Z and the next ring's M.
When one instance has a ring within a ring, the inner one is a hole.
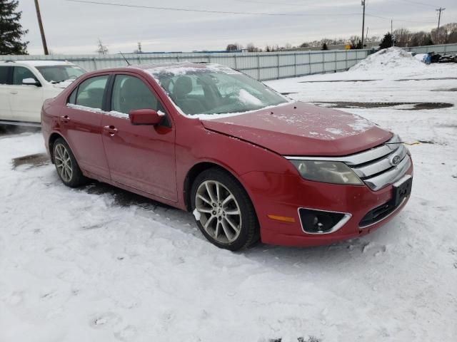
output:
M139 78L117 75L114 80L111 110L129 114L131 110L154 109L164 112L159 100Z

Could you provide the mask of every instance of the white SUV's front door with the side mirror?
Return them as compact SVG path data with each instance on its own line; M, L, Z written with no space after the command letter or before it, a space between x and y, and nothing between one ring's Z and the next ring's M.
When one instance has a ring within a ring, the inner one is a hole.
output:
M9 86L9 105L13 120L39 123L41 106L43 105L43 87L24 85L25 78L38 78L30 68L25 66L13 67L13 80Z

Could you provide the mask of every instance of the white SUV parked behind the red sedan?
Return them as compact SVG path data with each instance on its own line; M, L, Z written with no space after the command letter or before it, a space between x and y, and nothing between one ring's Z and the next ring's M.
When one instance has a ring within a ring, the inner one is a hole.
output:
M85 72L63 61L0 61L0 124L39 126L44 100Z

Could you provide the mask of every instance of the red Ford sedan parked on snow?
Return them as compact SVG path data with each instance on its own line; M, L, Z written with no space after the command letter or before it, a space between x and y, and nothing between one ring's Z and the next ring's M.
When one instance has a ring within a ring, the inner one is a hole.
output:
M411 193L398 135L214 64L86 73L46 100L41 124L65 185L95 179L189 210L225 249L359 237Z

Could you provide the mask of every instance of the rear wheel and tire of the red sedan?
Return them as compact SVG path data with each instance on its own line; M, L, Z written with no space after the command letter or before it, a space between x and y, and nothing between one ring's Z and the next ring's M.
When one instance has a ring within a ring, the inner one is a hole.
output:
M79 187L86 184L88 179L84 177L74 157L71 148L62 138L57 138L52 147L54 165L61 181L67 187Z

